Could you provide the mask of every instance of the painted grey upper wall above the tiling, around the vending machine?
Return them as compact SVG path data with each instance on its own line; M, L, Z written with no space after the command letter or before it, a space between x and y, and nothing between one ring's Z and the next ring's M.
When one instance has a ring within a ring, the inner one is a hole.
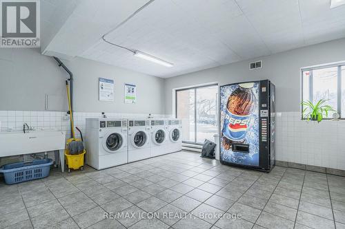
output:
M249 69L251 61L263 61L262 69ZM172 89L218 82L219 85L270 79L276 86L277 111L299 111L300 68L345 61L345 39L290 50L166 79L166 114L172 114Z

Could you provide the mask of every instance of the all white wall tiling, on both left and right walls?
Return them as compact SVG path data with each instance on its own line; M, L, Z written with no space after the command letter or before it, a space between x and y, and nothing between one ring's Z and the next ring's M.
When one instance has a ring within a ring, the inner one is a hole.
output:
M108 118L147 117L137 113L106 113ZM60 111L0 111L1 131L21 131L23 123L36 129L70 131L69 116ZM85 133L86 118L101 112L75 112L75 126ZM153 117L166 117L153 115ZM301 120L299 112L277 113L276 159L345 170L345 120L320 123ZM79 133L76 131L77 138Z

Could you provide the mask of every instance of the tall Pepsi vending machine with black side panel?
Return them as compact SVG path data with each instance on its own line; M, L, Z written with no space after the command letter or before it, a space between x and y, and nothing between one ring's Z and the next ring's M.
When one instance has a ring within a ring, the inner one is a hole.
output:
M275 165L275 85L270 80L219 88L220 162L269 172Z

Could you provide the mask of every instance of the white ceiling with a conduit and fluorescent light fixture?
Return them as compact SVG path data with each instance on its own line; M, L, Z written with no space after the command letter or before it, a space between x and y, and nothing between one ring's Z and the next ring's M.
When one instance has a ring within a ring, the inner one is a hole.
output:
M345 5L329 0L43 0L42 52L168 78L345 37ZM110 32L112 31L112 32ZM157 56L164 67L117 45Z

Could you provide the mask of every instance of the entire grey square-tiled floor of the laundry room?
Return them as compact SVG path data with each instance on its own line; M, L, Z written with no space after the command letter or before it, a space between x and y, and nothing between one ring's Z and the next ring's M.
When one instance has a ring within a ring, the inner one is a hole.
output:
M279 166L261 173L188 152L103 171L54 169L46 179L1 182L0 196L0 228L345 228L345 177Z

